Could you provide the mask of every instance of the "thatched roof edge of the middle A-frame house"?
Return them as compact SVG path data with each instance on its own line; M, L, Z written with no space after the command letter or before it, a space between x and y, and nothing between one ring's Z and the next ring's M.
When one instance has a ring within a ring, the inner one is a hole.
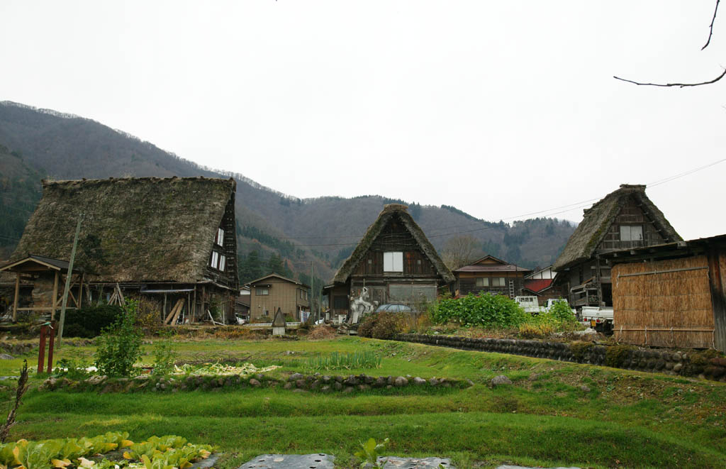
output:
M433 248L433 245L431 245L431 242L429 242L428 238L423 233L423 230L416 224L406 209L406 205L401 205L399 203L391 203L384 206L383 211L381 211L378 215L378 219L376 219L373 224L368 227L367 231L363 235L363 239L358 243L351 256L343 262L343 266L340 266L340 269L338 269L335 277L333 277L333 282L345 283L348 281L348 277L350 277L353 269L356 268L359 261L363 258L363 256L365 256L368 249L370 249L370 246L375 241L375 238L378 237L378 234L383 231L383 228L386 227L388 221L393 217L398 217L398 219L400 219L404 226L409 230L418 243L421 251L426 257L428 257L429 261L431 261L433 266L436 268L436 272L441 276L441 279L446 283L454 282L456 280L454 278L454 274L452 274L449 268L446 267L444 261L441 261L439 253L436 252L436 249Z

